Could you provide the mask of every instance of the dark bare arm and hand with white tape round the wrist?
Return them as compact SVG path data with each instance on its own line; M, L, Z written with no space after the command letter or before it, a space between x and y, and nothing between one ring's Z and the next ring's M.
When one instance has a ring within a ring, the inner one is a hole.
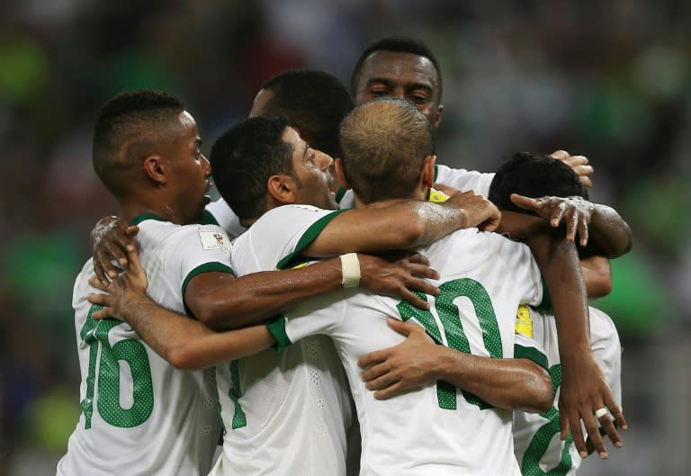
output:
M357 255L359 284L368 291L398 297L426 309L428 303L410 289L437 294L425 278L438 274L426 257L407 254L392 261L379 256ZM331 258L285 271L246 274L209 272L187 284L184 299L194 317L210 328L239 328L262 322L306 299L344 287L343 261Z

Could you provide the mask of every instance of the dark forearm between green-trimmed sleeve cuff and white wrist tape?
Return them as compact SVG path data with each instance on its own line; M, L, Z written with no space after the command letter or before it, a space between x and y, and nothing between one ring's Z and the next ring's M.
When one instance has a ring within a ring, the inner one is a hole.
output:
M194 299L195 317L214 329L263 322L311 297L343 287L341 262L329 259L285 271L246 274L228 285L204 286Z

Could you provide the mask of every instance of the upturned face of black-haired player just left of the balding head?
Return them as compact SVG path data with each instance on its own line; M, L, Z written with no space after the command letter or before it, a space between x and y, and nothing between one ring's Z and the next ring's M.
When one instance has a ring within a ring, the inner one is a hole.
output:
M292 167L295 175L295 202L336 210L336 194L330 189L334 159L315 148L310 148L297 130L286 128L283 141L292 145Z

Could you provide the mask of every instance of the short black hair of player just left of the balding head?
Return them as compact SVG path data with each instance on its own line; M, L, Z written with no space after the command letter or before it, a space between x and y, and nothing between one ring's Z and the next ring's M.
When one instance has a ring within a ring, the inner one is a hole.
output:
M266 211L266 183L271 175L294 176L292 145L283 141L286 118L258 116L226 130L211 147L213 181L240 220Z

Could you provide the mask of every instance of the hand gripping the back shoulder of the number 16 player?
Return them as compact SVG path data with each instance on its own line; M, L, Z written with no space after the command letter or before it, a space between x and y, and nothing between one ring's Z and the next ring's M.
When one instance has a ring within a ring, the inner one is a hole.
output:
M104 217L91 230L94 272L103 283L127 269L128 253L136 247L132 237L138 232L139 227L128 226L118 217Z

